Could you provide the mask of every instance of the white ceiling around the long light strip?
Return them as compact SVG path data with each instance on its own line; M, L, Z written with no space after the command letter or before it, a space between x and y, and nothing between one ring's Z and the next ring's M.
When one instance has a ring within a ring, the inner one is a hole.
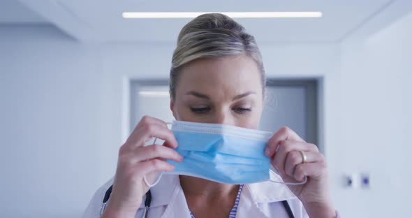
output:
M321 18L236 19L258 41L279 43L337 43L365 23L388 10L402 7L384 17L382 24L411 11L409 0L2 0L0 23L51 23L79 41L172 42L190 19L128 19L124 11L321 11ZM402 10L402 11L400 11ZM379 25L378 25L379 26Z

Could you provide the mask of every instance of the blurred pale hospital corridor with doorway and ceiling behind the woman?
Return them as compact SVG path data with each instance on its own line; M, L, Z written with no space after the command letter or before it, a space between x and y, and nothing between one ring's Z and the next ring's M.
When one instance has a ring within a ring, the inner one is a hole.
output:
M410 217L409 0L0 0L0 217L80 217L140 117L172 120L170 62L191 18L122 13L256 11L318 12L235 18L269 79L260 128L320 147L341 217Z

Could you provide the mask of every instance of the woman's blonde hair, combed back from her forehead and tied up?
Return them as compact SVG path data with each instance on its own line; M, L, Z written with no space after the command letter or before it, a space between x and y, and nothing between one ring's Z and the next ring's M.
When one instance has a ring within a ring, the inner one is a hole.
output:
M170 68L170 98L175 99L179 68L200 58L246 54L256 64L261 75L265 95L265 70L255 38L232 18L219 14L203 14L186 24L177 37Z

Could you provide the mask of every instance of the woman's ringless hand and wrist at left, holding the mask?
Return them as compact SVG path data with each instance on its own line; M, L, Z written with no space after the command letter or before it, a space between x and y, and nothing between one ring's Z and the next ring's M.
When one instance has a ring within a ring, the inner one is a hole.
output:
M165 140L163 146L145 146L154 137ZM143 117L119 149L115 182L103 217L135 217L143 195L149 190L143 177L152 183L159 172L173 170L175 166L166 159L183 160L182 155L173 150L176 147L175 135L165 122Z

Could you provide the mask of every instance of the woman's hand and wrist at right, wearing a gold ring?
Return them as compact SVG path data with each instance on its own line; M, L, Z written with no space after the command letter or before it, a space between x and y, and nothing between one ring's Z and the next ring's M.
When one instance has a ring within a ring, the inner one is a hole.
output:
M307 157L303 161L303 154ZM307 182L288 185L302 201L309 217L335 217L329 194L328 168L325 157L314 144L307 143L293 130L284 126L270 138L265 150L272 166L284 182Z

